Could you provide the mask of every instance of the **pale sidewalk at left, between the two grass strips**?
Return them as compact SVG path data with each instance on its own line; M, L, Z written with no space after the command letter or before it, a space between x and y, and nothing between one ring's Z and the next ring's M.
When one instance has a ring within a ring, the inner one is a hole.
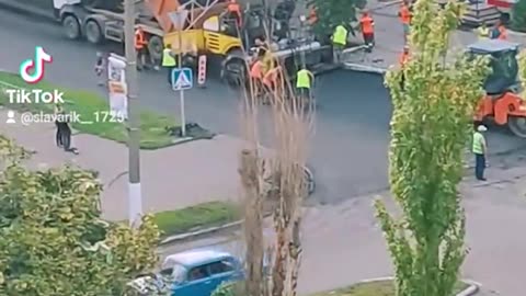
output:
M0 118L7 118L5 110L0 110ZM75 156L55 146L53 124L23 126L2 122L0 133L36 151L30 166L56 167L69 162L99 171L105 186L101 200L103 217L111 220L127 217L128 153L125 145L81 134L72 139L72 146L80 152ZM238 152L242 148L241 139L220 135L211 140L142 150L144 210L168 210L237 198Z

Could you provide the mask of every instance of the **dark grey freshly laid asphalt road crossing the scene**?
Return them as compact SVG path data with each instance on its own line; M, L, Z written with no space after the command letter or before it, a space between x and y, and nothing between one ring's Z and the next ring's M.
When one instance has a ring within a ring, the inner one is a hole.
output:
M54 57L47 80L103 94L93 73L98 49L65 39L56 24L2 10L0 39L0 68L16 71L39 45ZM144 107L179 114L178 94L167 86L164 72L145 72L139 80ZM318 182L316 200L331 203L387 187L390 103L382 79L343 70L328 73L318 78L316 98L319 109L309 159ZM186 92L186 114L216 133L240 135L239 102L238 93L210 79L207 89ZM271 139L265 138L263 144L268 145ZM489 143L493 152L521 145L505 133L490 135Z

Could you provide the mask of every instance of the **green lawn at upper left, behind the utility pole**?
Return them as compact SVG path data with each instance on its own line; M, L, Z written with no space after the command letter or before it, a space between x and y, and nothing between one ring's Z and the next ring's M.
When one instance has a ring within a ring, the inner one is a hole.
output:
M37 84L27 84L18 75L0 71L0 105L4 105L11 110L21 112L54 112L53 104L10 104L4 88L11 88L1 82L15 86L21 89L43 89L59 90L65 93L66 112L76 112L80 114L82 122L93 122L93 124L72 123L72 127L80 133L100 136L118 143L127 141L127 129L125 124L116 122L96 122L95 114L107 114L110 110L107 100L103 96L88 91L71 90L60 88L48 82L39 82ZM100 113L103 112L103 113ZM103 116L99 115L100 121ZM179 126L175 118L163 116L149 111L140 111L140 147L142 149L158 149L173 145L175 137L170 136L165 127Z

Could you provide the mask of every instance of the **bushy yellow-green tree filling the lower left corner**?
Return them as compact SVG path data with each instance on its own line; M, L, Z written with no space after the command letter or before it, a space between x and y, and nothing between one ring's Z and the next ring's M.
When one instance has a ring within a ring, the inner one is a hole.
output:
M30 170L26 151L0 136L0 295L123 295L157 263L159 230L101 220L93 172Z

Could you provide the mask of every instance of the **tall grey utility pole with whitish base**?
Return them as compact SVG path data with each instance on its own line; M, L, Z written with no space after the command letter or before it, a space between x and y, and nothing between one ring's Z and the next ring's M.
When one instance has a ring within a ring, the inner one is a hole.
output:
M137 54L135 50L135 1L124 0L124 36L126 84L128 94L128 221L138 227L142 215L140 187L140 135L137 86Z

